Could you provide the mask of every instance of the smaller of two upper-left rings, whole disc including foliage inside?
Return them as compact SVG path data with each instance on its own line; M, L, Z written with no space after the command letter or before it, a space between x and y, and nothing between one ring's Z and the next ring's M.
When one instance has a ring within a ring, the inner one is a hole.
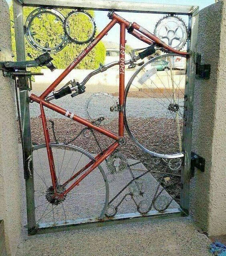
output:
M84 24L87 24L86 27ZM96 33L96 24L88 12L73 10L65 19L64 30L70 41L82 45L93 40Z

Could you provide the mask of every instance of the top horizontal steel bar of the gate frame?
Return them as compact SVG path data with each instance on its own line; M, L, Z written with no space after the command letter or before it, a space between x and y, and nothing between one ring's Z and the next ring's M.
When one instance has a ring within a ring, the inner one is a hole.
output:
M24 6L59 6L67 8L83 8L89 10L115 10L123 12L150 12L192 14L197 6L176 4L152 4L138 2L123 2L111 0L21 0Z

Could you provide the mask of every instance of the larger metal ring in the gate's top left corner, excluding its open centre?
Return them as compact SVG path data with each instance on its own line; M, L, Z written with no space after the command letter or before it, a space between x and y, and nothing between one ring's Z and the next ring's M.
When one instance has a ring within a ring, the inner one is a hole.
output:
M41 53L46 53L46 52L57 53L57 52L61 51L69 42L69 39L66 34L64 34L64 36L62 37L62 41L60 44L51 48L51 47L48 47L48 45L46 45L45 47L39 45L38 42L36 42L36 40L34 39L32 33L30 31L30 28L31 28L31 25L32 25L32 22L34 21L34 19L36 17L40 17L40 15L42 15L44 13L49 13L49 14L54 15L57 18L57 20L60 20L62 22L62 26L64 28L65 17L63 16L63 14L61 12L59 12L56 9L37 8L37 9L33 10L26 19L25 37L28 40L28 43L37 51L40 51ZM69 28L67 28L67 29L69 30ZM68 31L68 33L70 33L70 32Z

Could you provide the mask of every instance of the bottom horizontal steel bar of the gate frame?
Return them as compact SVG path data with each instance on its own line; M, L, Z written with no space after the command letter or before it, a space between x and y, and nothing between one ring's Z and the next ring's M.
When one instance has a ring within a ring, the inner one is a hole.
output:
M78 228L91 228L91 227L100 227L105 226L107 224L115 224L115 223L125 223L125 221L142 221L144 219L149 219L153 217L182 217L185 216L184 212L180 208L173 208L167 209L164 212L160 213L159 211L149 211L146 215L141 215L140 213L127 213L127 214L117 214L115 217L107 218L104 217L103 219L99 220L96 218L85 218L85 219L77 219L77 220L69 220L67 223L65 221L59 221L55 223L40 223L38 228L35 230L31 230L28 234L43 234L53 231L63 231L63 230L71 230L71 229L78 229Z

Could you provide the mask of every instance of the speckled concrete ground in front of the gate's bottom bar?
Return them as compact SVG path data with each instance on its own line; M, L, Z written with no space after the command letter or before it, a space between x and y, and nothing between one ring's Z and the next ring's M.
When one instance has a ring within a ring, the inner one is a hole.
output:
M210 256L210 240L188 218L149 219L27 236L17 256Z

